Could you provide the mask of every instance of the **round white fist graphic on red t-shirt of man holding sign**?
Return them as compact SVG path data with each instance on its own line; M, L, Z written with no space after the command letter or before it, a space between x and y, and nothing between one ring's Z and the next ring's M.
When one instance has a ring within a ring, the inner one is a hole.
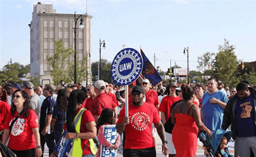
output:
M131 125L136 130L145 130L150 123L148 114L144 112L137 112L131 117Z

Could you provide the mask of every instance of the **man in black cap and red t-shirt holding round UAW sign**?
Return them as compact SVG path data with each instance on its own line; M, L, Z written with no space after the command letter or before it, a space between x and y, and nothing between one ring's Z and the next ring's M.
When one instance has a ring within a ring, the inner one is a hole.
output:
M156 157L156 149L152 137L152 123L157 128L160 139L163 142L162 152L167 154L166 137L164 127L158 115L157 108L143 102L144 90L135 86L132 91L133 103L129 104L128 117L125 117L125 108L122 108L116 129L119 134L125 132L124 157L147 156Z

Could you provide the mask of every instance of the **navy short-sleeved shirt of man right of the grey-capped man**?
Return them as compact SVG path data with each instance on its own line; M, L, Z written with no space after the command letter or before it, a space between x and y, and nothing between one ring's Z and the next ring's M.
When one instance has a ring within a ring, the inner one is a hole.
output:
M41 112L40 112L40 128L39 128L39 132L40 133L44 129L46 115L53 113L53 107L54 106L55 106L55 100L53 99L52 95L50 95L49 97L45 98L44 102L42 103ZM49 126L47 128L47 133L48 134L49 134L49 128L50 128Z

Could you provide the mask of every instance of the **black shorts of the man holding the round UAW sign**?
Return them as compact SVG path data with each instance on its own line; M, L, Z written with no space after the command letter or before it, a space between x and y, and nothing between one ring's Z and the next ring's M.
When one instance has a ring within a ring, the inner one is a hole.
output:
M155 147L144 149L124 149L124 157L156 157L157 151Z

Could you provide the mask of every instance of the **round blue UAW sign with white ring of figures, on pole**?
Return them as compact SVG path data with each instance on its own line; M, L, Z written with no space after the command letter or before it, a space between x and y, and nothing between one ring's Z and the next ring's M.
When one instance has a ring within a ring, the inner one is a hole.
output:
M122 49L116 54L112 62L111 77L118 85L129 85L139 77L142 67L143 60L137 50Z

